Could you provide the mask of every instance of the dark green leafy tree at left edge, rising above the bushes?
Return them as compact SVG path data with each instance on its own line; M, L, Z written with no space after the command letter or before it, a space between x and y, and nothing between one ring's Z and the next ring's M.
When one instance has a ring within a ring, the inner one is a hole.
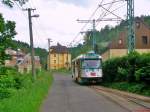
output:
M16 35L15 22L5 21L0 14L0 65L9 58L5 50L12 46L12 38Z

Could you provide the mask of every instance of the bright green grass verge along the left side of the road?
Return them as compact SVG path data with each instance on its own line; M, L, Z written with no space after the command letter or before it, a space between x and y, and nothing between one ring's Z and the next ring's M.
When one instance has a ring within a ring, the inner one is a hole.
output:
M32 83L29 76L25 76L23 88L12 90L12 96L0 101L0 112L38 112L40 105L48 94L52 84L52 75L42 71L36 81Z

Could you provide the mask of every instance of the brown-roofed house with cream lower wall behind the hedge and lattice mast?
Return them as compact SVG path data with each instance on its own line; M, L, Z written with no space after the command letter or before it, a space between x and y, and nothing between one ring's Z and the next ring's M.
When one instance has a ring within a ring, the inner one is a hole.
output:
M120 32L118 38L109 43L108 50L102 54L103 61L127 55L127 39L127 31ZM141 18L135 19L135 51L150 52L150 26Z

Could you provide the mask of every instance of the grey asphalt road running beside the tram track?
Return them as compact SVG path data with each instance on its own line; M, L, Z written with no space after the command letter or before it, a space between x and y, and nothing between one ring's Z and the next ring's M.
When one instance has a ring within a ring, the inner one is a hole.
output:
M54 74L54 83L41 112L128 112L86 86L74 83L71 75Z

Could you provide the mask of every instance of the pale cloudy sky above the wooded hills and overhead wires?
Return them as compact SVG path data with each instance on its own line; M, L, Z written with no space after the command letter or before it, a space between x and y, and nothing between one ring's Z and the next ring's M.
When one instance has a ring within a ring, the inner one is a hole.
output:
M9 8L0 3L0 13L3 14L6 20L16 22L17 35L16 40L23 42L30 42L28 15L22 8L36 8L32 15L39 14L39 18L32 18L33 23L33 37L34 46L41 48L48 48L47 39L51 38L51 45L56 45L58 42L62 45L75 45L82 42L82 31L92 29L91 23L78 23L76 20L88 20L94 10L98 7L102 0L28 0L22 7L16 3L13 8ZM102 4L109 3L115 0L103 0ZM150 1L149 0L135 0L135 16L150 15ZM121 19L126 19L126 2L121 1L114 3L112 6L105 5L104 8L109 8L113 13ZM106 11L99 7L95 15L90 18L98 19L102 13ZM113 14L106 13L105 18L116 18ZM83 28L83 26L86 26ZM105 25L115 26L118 22L104 22L96 23L96 29L100 30Z

